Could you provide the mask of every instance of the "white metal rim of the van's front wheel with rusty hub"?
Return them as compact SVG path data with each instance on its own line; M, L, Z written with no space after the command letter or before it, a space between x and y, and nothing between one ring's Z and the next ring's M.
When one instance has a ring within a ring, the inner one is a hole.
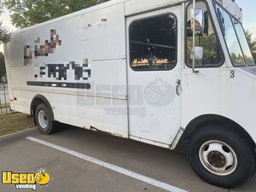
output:
M230 145L220 141L204 143L199 151L201 164L218 176L227 176L236 171L237 157Z

